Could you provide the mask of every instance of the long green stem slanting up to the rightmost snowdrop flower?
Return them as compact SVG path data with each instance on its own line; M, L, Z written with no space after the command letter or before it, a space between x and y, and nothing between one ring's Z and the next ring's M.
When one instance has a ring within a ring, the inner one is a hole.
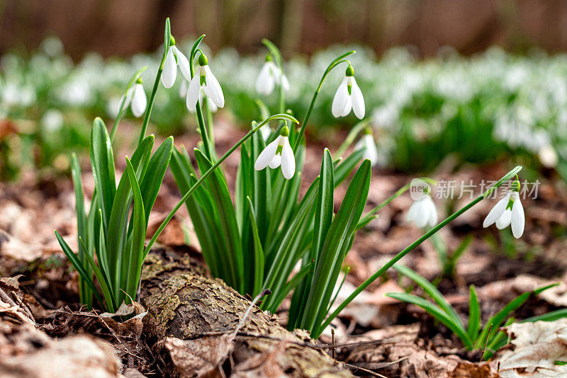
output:
M344 299L344 301L339 304L339 307L337 307L337 309L335 309L335 311L332 312L332 314L330 314L329 316L327 316L327 319L315 330L313 330L312 333L312 337L317 339L319 338L319 336L321 335L322 331L325 330L325 328L331 323L332 319L335 319L337 317L337 315L340 314L340 312L342 311L342 309L344 309L344 307L347 307L347 305L352 302L352 300L357 297L358 294L360 294L362 292L362 290L366 289L366 287L369 287L369 285L374 282L378 277L380 277L381 275L383 275L384 273L386 273L386 270L390 269L392 267L392 265L394 265L395 263L397 263L401 258L403 258L405 255L407 255L408 253L410 253L412 250L414 250L417 246L419 246L420 244L422 244L425 240L427 240L430 236L432 236L433 234L435 234L437 231L439 231L440 229L442 229L443 227L447 226L447 224L449 224L450 222L452 222L454 219L456 219L456 217L459 217L459 215L463 214L464 212L466 212L466 210L470 209L471 207L473 207L474 205L476 205L478 202L481 202L482 200L485 199L485 197L488 197L488 195L490 195L490 193L492 193L494 190L496 190L497 188L500 188L500 186L505 183L505 181L510 180L510 178L512 178L516 173L518 173L520 170L522 169L522 166L517 166L516 168L512 169L512 171L508 172L505 176L503 176L503 178L500 178L500 180L498 180L498 182L496 182L493 186L491 186L490 188L488 188L485 193L479 195L478 197L476 197L474 200L472 200L471 202L468 202L467 205L465 205L464 207L461 208L461 210L455 212L454 214L450 215L449 217L447 217L446 219L444 219L443 222L437 224L437 226L433 227L432 229L430 229L430 231L427 231L425 234L423 234L419 239L417 239L416 241L414 241L412 244L410 244L408 247L406 247L403 251L401 251L400 253L398 253L397 255L395 255L391 260L388 261L388 263L386 263L385 265L382 266L382 268L378 269L376 271L376 273L374 273L373 275L371 275L369 277L368 280L362 282L362 284L357 287L356 290L354 290L354 292L352 292L352 294L349 295L349 297L347 297L347 299Z

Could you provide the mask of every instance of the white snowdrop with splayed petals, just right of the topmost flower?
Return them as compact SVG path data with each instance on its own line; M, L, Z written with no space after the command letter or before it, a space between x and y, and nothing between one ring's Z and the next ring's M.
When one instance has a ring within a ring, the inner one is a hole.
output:
M225 105L225 96L223 95L223 88L220 88L217 78L213 75L208 67L208 60L204 54L199 55L199 67L189 83L187 90L186 105L190 112L194 112L197 108L197 101L199 98L200 89L203 88L205 95L218 106L223 108Z

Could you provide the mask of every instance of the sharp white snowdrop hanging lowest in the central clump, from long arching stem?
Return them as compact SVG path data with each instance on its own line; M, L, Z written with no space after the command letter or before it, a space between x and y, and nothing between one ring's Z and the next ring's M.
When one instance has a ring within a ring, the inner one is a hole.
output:
M260 152L254 169L262 171L262 169L269 166L276 169L281 166L281 173L287 180L293 177L296 173L296 158L293 156L293 149L289 144L289 129L284 126L281 129L279 137L266 146L264 151Z

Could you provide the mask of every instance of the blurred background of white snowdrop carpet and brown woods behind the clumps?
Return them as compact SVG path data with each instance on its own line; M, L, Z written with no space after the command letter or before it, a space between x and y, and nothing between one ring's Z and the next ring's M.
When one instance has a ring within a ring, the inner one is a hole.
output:
M91 120L116 115L125 81L145 65L149 93L167 16L184 52L207 35L227 99L220 116L238 125L259 117L262 38L283 51L295 114L328 62L354 48L382 166L428 173L447 159L517 154L567 177L567 2L520 0L0 1L0 177L67 171ZM322 88L311 137L356 122L330 113L342 74ZM153 132L194 130L180 87L160 86ZM263 99L276 109L275 95Z

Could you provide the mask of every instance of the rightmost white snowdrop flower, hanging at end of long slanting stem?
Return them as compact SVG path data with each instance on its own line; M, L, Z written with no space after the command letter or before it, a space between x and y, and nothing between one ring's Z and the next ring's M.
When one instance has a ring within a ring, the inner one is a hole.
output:
M520 181L516 180L510 191L490 210L484 219L483 227L496 223L496 228L504 229L512 224L512 235L520 239L524 234L525 222L524 207L520 202Z

